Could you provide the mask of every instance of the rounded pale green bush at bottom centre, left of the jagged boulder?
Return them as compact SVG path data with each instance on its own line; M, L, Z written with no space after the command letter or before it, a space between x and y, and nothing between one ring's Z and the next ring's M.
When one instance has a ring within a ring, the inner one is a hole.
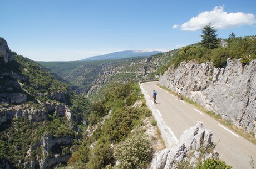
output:
M136 131L116 146L114 156L122 168L146 168L152 159L150 140L144 133Z

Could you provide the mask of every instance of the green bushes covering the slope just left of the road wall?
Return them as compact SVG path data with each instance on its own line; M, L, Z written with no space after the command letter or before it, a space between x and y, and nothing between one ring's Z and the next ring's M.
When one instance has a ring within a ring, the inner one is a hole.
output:
M137 100L144 102L138 84L133 81L112 84L105 91L104 98L93 104L90 130L87 130L82 145L73 153L68 165L75 168L112 168L119 160L117 168L145 167L152 158L152 147L149 138L138 127L145 117L151 116L151 112L145 104L132 108ZM103 123L102 117L106 118Z

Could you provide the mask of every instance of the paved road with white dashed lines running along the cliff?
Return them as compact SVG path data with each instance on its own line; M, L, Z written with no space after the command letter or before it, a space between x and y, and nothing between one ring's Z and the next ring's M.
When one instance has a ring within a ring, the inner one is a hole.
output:
M235 169L252 168L249 163L252 158L256 165L256 145L224 127L210 116L196 110L193 105L178 100L176 96L156 86L157 83L154 81L141 84L149 95L145 98L150 98L152 101L152 90L157 91L155 109L159 110L165 124L170 127L177 139L186 129L201 121L205 129L213 131L213 142L216 144L216 150L219 152L221 160Z

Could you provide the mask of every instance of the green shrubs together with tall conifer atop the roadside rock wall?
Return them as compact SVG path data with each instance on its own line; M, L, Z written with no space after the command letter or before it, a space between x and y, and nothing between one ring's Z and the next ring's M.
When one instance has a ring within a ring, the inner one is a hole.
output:
M217 68L223 68L228 58L241 59L243 64L248 64L256 59L256 36L235 37L231 33L228 39L218 39L216 29L210 24L202 29L203 40L200 43L182 47L171 60L170 65L175 68L181 62L196 60L198 63L213 62Z

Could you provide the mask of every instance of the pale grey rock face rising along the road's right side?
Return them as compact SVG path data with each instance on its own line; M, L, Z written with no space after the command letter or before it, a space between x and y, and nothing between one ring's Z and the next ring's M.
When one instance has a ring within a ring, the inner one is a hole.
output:
M222 115L256 135L256 60L243 66L227 60L225 68L190 61L169 68L159 83L181 93L207 110Z

